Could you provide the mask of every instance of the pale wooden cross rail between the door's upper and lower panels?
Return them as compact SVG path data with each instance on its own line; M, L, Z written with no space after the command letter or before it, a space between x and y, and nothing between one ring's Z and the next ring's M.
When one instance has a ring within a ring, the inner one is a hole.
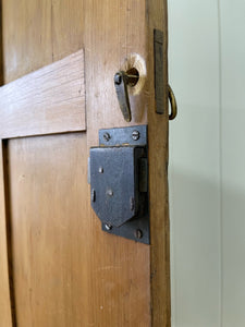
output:
M86 130L84 51L0 88L0 137Z

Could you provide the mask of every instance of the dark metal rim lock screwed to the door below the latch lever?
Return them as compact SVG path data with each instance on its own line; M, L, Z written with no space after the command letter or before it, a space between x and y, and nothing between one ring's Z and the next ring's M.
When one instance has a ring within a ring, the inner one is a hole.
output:
M149 244L147 126L100 130L99 145L89 166L102 230Z

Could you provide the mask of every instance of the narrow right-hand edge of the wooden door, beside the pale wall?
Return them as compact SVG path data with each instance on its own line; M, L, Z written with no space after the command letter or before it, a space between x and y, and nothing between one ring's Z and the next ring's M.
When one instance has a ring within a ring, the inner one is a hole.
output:
M150 202L150 286L151 326L171 326L170 222L169 222L169 112L168 112L168 7L167 0L146 0L149 133L149 202ZM156 113L154 29L163 32L164 113Z

